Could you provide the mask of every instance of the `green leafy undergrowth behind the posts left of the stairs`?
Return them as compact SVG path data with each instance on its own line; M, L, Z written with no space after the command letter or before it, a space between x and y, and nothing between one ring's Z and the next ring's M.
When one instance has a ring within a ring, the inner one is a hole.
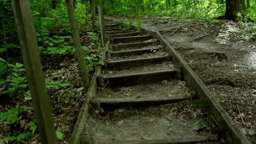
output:
M77 61L65 0L59 1L55 9L52 8L51 0L30 1L44 71L61 69L54 67L55 60L75 59L72 63ZM100 61L102 47L99 33L89 29L85 24L85 19L88 19L90 15L85 16L84 8L85 5L77 0L75 13L84 59L88 65L88 72L93 73L97 65L104 64ZM35 120L27 75L21 59L11 1L0 0L0 20L4 21L0 26L0 129L4 133L1 139L5 139L8 143L39 140L39 129ZM69 67L66 64L72 63L65 63L61 67ZM69 92L68 89L81 89L76 88L77 83L72 83L59 74L46 75L45 73L45 84L52 107L63 108L54 101L56 97L61 97L65 104L73 103L76 93ZM67 93L59 94L64 90L67 90ZM57 137L63 140L66 134L64 129L59 126L55 128Z

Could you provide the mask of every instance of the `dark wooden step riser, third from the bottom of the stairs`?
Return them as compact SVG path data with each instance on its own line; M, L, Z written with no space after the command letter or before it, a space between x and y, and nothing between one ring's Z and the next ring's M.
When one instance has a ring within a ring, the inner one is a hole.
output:
M140 72L140 73L129 73L125 75L112 75L104 76L99 75L97 77L98 84L101 87L109 85L111 87L118 86L130 86L138 84L157 83L162 80L177 79L179 77L179 71L175 69L160 70L153 72Z

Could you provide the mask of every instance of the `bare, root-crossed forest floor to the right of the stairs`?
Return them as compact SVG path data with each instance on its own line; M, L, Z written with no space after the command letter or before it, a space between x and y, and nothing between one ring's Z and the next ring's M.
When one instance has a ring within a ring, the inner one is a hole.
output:
M161 32L256 144L256 24L144 17L142 26Z

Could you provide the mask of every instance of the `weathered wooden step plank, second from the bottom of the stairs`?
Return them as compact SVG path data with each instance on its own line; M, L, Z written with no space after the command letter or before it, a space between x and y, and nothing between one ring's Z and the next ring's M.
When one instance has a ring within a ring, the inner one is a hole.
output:
M122 99L101 99L97 98L93 100L93 103L99 103L102 108L117 109L120 107L146 107L157 106L160 104L168 104L173 102L184 101L191 99L190 97L172 96L161 98L122 98Z

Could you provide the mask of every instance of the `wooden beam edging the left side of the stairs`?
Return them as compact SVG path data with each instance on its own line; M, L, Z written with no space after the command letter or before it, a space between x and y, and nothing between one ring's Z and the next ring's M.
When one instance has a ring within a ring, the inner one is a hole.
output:
M107 41L105 48L104 48L104 53L101 56L101 61L106 60L106 50L108 50L109 47L109 40ZM88 111L90 106L88 105L91 103L92 99L94 96L96 96L97 92L97 77L101 75L101 70L102 66L96 67L96 70L93 74L93 78L91 80L91 84L88 88L88 91L86 93L86 97L83 101L83 105L81 107L80 113L77 117L77 121L75 123L75 126L73 128L72 134L70 136L69 144L78 144L79 139L80 139L80 134L83 132L84 125L87 121L88 117Z

